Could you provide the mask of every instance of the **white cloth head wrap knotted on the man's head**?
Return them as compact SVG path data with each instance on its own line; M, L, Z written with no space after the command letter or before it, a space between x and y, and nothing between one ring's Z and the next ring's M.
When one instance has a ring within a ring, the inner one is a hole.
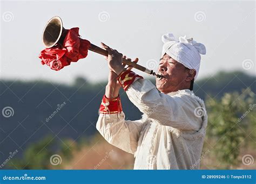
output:
M164 34L162 41L164 46L161 58L166 53L185 67L195 69L197 74L194 79L196 79L200 68L200 54L206 54L204 44L197 43L193 39L186 39L186 36L179 37L179 41L177 41L172 33Z

